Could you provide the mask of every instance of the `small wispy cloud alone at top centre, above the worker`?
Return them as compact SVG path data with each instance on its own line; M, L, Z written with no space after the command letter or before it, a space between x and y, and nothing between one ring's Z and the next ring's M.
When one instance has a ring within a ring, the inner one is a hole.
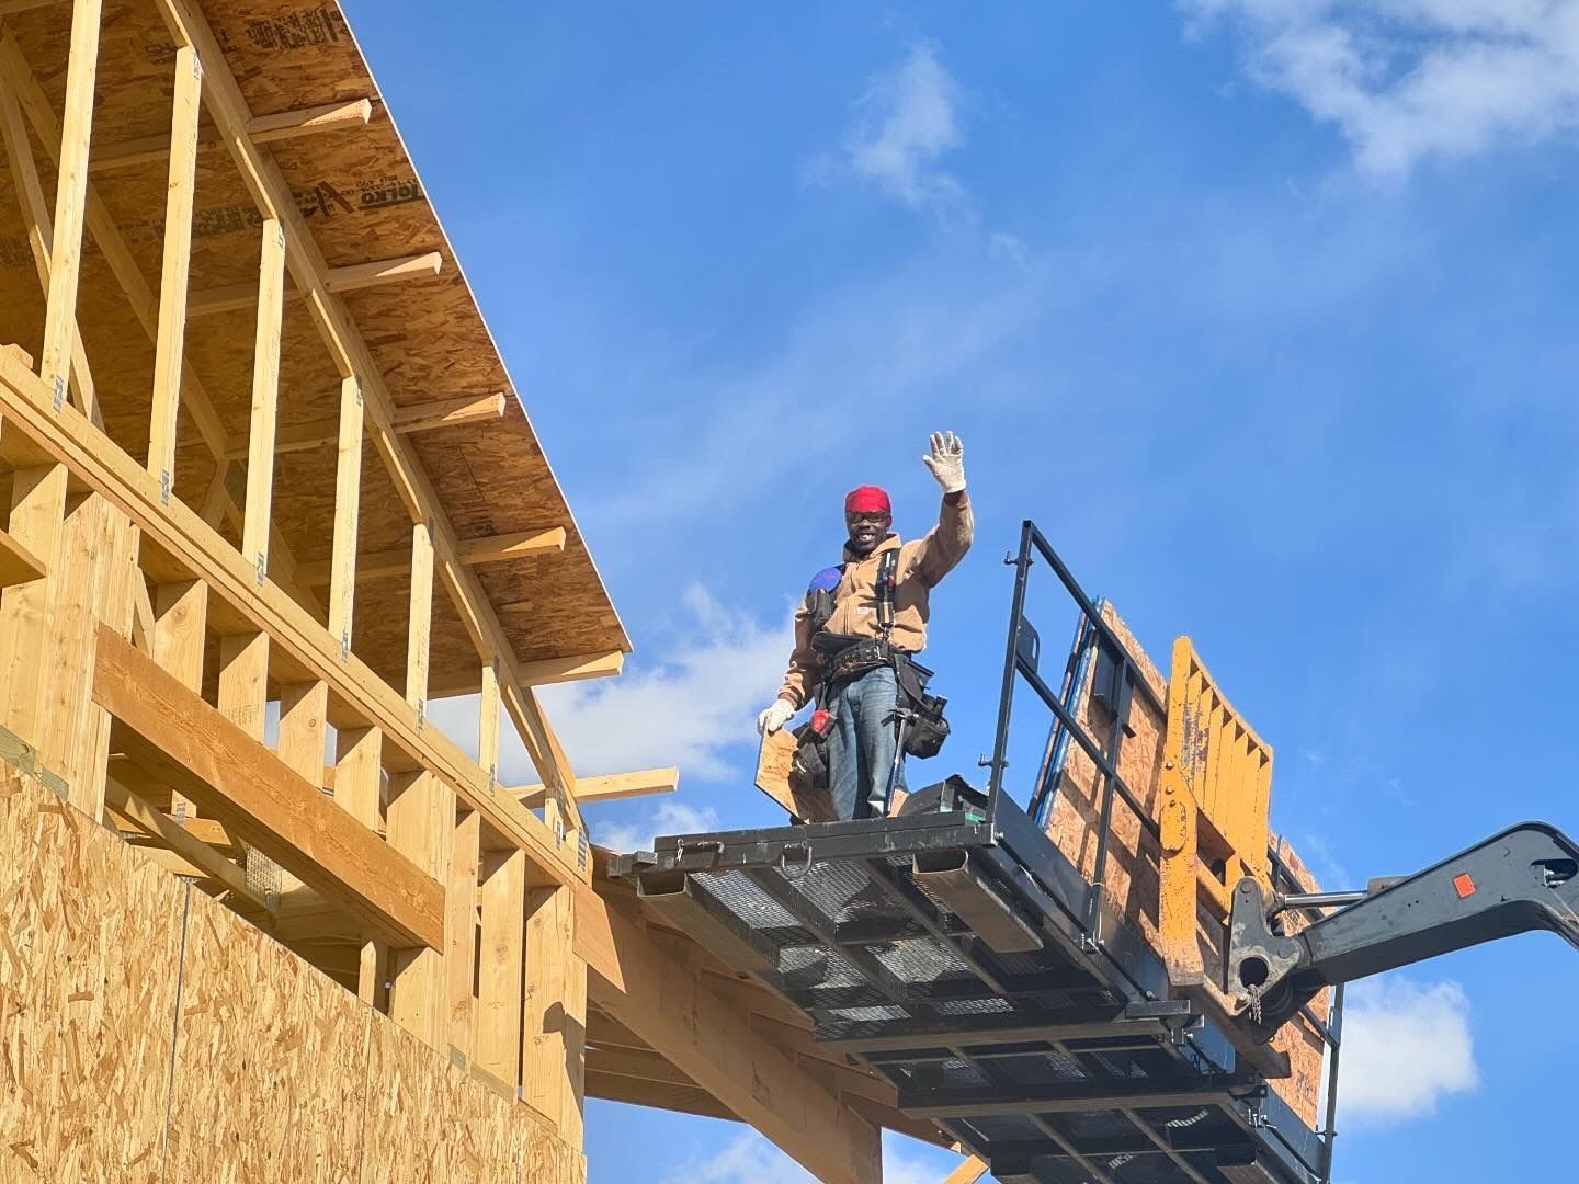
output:
M808 174L846 172L916 210L970 215L970 196L940 161L965 145L963 90L930 44L913 46L894 69L878 74L856 104L837 164L813 161Z

